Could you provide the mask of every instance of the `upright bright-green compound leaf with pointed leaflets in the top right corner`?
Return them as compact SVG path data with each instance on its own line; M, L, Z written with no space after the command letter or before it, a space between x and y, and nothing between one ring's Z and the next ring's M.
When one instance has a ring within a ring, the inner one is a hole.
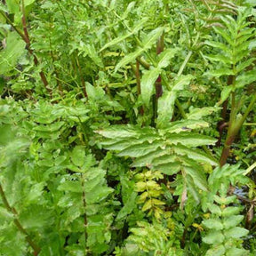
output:
M207 74L215 77L232 76L232 81L221 92L221 101L228 99L231 92L252 84L256 80L252 68L255 58L249 58L255 44L255 28L250 28L248 17L251 9L239 8L237 16L221 16L222 26L214 26L218 36L216 40L208 40L205 44L216 50L215 54L206 54L213 63L219 63L219 68L210 70Z

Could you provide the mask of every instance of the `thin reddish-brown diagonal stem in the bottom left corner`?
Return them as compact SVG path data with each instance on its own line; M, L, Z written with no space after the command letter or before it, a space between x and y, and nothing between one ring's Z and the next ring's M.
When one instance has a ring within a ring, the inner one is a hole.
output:
M1 195L2 201L3 201L3 203L4 203L4 207L7 209L7 211L12 212L12 214L13 214L14 216L17 215L16 210L15 210L14 208L12 208L11 205L8 203L8 200L7 200L7 198L6 198L5 194L4 194L4 189L3 189L3 187L2 187L1 184L0 184L0 195ZM40 247L38 247L38 246L33 242L33 240L28 236L28 232L26 231L25 228L22 227L22 225L20 224L20 221L19 221L17 218L15 218L15 219L13 220L13 222L14 222L15 226L20 230L20 232L26 236L26 240L27 240L28 244L29 244L29 245L32 247L32 249L34 250L34 255L35 255L35 256L38 255L39 252L41 251Z

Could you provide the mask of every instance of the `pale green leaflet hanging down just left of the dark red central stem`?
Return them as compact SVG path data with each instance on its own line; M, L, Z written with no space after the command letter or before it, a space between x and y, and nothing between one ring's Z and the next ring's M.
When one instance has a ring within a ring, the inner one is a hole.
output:
M141 98L144 104L148 107L151 96L154 93L155 82L159 74L161 73L161 69L153 68L150 70L145 70L142 78L141 78Z

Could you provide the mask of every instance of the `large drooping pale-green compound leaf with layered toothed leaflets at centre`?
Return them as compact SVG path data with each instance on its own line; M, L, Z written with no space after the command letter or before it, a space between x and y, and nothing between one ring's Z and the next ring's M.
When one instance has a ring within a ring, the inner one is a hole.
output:
M217 165L212 156L208 156L197 147L211 145L212 137L191 132L207 126L204 121L186 120L173 122L168 128L113 125L97 131L105 140L101 145L108 150L118 151L117 156L130 156L132 167L148 167L166 175L182 173L188 190L198 193L207 190L204 164ZM185 179L186 177L186 179ZM185 189L185 188L184 188Z

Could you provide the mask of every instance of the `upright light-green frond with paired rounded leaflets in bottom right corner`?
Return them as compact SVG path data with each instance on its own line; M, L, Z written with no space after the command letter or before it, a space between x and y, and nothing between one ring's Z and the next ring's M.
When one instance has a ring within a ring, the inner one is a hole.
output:
M207 204L203 206L208 209L210 215L202 222L207 230L203 242L210 244L207 256L248 255L248 251L242 246L242 237L248 234L248 230L239 227L244 216L239 215L241 207L237 206L236 196L228 195L230 184L236 185L238 180L244 183L247 178L237 165L218 167L209 177L210 193L205 195Z

